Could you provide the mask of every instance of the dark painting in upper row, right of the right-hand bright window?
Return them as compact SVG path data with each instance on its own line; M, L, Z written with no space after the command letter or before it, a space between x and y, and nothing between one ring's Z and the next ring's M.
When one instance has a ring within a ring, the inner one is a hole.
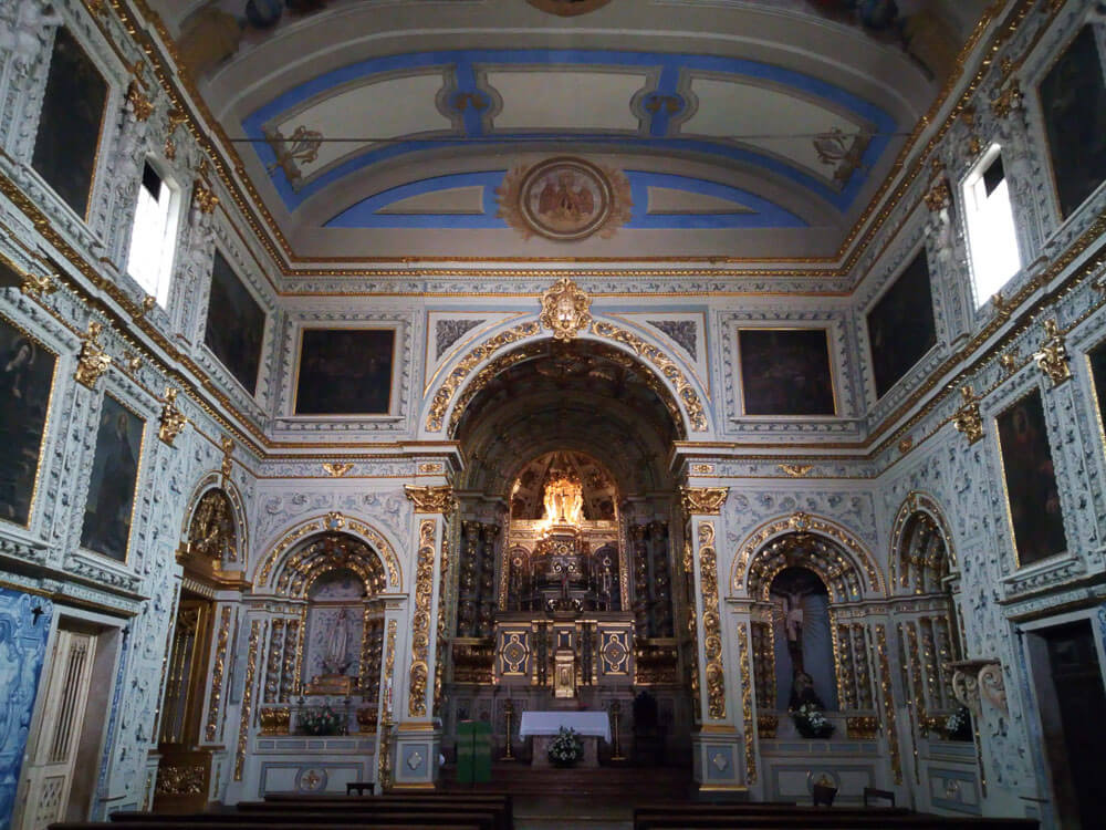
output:
M1106 180L1106 81L1094 30L1083 27L1037 86L1062 217Z

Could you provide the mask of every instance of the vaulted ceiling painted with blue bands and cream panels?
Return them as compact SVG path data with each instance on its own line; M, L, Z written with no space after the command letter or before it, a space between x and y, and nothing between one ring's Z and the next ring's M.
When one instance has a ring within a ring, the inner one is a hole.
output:
M982 6L149 4L307 260L833 258ZM609 232L512 225L512 176L555 156L617 184Z

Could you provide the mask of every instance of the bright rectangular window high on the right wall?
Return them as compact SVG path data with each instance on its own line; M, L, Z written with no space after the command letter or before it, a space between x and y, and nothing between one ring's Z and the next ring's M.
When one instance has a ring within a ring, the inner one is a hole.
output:
M963 185L972 290L979 308L1021 268L1010 189L998 144L975 165Z

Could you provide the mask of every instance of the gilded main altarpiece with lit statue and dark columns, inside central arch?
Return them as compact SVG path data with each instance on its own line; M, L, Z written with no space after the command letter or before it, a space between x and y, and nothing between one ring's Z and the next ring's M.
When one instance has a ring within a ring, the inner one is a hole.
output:
M461 551L448 697L457 720L493 723L501 756L534 764L550 735L535 723L583 716L586 765L617 755L619 733L630 738L639 693L668 694L668 722L678 718L668 551L656 525L650 539L618 516L605 471L580 454L550 455L520 475L505 533L466 528L474 543Z

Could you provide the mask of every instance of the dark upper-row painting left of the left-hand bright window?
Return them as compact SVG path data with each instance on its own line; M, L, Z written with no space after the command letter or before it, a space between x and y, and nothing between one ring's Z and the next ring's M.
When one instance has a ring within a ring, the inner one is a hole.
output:
M107 82L65 27L54 35L31 166L79 216L87 216Z

